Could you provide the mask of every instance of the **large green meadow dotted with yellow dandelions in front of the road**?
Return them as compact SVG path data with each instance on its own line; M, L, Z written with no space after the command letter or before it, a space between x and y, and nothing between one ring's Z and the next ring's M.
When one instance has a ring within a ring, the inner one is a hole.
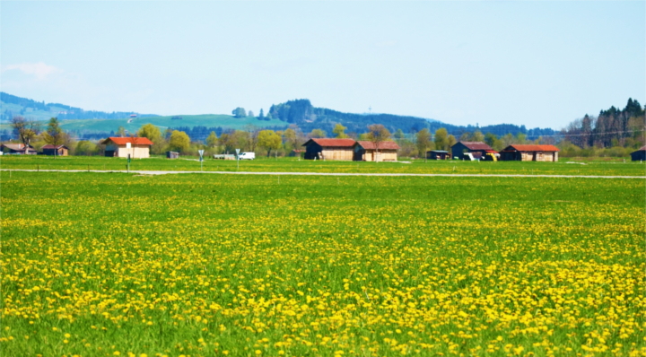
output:
M646 353L643 180L0 179L7 356Z

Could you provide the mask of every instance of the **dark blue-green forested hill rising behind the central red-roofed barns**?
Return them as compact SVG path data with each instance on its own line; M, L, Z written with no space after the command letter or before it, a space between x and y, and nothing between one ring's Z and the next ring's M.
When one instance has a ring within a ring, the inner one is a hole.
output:
M342 113L340 111L316 108L310 103L310 100L289 100L281 104L272 105L267 112L267 119L278 118L289 124L296 124L304 132L310 132L312 129L323 129L327 134L332 133L336 123L347 126L346 133L363 133L366 127L371 124L382 124L386 126L391 133L401 129L405 133L417 132L424 127L435 131L445 127L449 134L461 135L464 132L474 132L479 129L483 133L492 133L495 135L506 135L518 133L528 136L554 135L551 128L534 128L527 129L525 126L516 126L513 124L499 124L495 126L454 126L434 119L424 119L417 117L397 116L393 114L352 114Z

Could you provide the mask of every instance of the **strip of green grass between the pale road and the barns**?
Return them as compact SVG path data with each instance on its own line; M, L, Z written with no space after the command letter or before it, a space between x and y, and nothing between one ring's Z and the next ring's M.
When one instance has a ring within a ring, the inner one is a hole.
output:
M441 174L523 174L523 175L600 175L646 176L646 162L626 161L588 162L586 164L559 162L519 161L428 161L356 162L356 161L299 161L297 158L259 157L255 161L240 161L240 171L267 172L332 172L332 173L441 173ZM3 156L0 167L7 170L126 170L127 160L106 157L70 156ZM151 158L132 160L130 170L200 170L195 157L167 160ZM205 171L236 171L236 161L205 159Z

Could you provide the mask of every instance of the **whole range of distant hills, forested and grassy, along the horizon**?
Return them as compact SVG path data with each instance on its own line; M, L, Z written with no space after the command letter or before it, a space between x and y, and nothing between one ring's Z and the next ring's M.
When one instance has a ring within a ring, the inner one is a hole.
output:
M554 130L550 128L527 129L525 126L511 124L483 127L454 126L429 118L394 114L344 113L334 109L314 107L307 99L288 100L272 105L265 117L236 118L225 114L159 116L132 111L84 110L59 103L46 104L44 101L30 100L0 92L0 129L3 130L3 137L11 134L8 122L16 115L43 121L43 126L49 118L57 117L61 120L63 129L73 133L77 138L83 139L105 137L117 132L119 126L124 126L128 132L134 132L147 123L160 126L162 129L170 127L187 131L194 140L204 140L211 131L221 135L223 131L241 129L249 125L259 128L283 129L295 124L306 133L313 129L323 129L327 135L332 135L332 129L337 123L347 126L346 133L363 133L371 124L383 124L392 133L397 129L401 129L405 133L412 133L424 127L431 131L445 127L450 134L456 136L476 130L499 136L507 133L512 135L522 133L530 138L538 135L554 135ZM131 115L136 115L136 118L130 118Z

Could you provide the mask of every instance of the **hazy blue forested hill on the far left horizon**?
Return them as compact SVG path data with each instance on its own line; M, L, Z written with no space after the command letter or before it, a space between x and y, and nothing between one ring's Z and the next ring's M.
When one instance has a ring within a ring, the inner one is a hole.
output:
M59 119L122 119L136 114L137 117L157 117L154 114L139 114L134 111L97 111L83 110L60 103L47 103L35 101L0 91L0 106L2 121L11 120L13 116L29 116L37 120L47 120L57 117Z

